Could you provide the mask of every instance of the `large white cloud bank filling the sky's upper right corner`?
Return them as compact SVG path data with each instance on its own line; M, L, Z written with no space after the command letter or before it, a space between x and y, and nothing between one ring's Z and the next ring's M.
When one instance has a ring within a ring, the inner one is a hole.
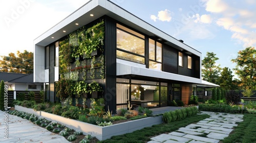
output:
M207 0L206 11L216 17L216 24L232 33L234 42L243 46L256 45L256 9L252 1ZM228 7L227 7L228 6Z

